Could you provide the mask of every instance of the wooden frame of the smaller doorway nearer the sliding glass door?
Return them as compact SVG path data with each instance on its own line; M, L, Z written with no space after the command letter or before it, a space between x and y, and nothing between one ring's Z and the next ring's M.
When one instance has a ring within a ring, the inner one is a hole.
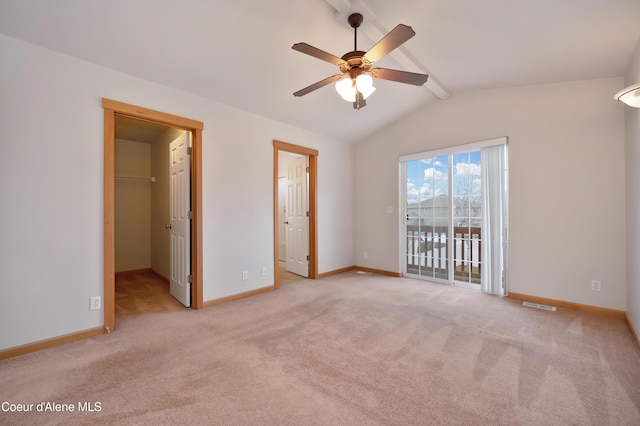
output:
M317 226L317 183L318 183L318 151L287 142L273 141L273 276L274 288L280 287L279 235L278 227L278 152L286 151L309 157L309 278L318 277L318 226Z

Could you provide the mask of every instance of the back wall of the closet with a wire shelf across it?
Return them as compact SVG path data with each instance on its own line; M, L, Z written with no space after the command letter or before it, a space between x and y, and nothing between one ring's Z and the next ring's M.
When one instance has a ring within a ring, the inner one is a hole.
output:
M116 176L151 176L151 146L116 139ZM115 182L116 272L151 267L151 186L153 183L117 179Z

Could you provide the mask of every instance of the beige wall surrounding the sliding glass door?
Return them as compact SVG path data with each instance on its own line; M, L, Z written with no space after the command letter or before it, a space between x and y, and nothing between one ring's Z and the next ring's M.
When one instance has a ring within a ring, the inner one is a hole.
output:
M402 270L400 155L507 136L510 291L625 310L624 114L613 100L622 84L454 94L358 143L356 264ZM592 279L602 281L601 292L590 289Z

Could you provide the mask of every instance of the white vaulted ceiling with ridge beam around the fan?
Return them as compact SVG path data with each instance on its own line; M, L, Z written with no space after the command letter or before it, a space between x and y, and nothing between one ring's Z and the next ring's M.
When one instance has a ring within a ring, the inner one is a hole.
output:
M427 84L376 80L359 111L332 86L294 97L338 70L291 46L353 50L352 12L359 50L411 26L376 65ZM638 0L0 1L0 33L344 142L463 91L622 76L639 22Z

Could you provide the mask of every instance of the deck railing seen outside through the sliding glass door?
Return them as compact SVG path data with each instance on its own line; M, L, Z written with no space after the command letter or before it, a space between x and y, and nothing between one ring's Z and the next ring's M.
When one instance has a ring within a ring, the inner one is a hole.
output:
M407 225L407 270L410 273L448 279L447 226ZM454 279L480 283L481 229L453 228Z

